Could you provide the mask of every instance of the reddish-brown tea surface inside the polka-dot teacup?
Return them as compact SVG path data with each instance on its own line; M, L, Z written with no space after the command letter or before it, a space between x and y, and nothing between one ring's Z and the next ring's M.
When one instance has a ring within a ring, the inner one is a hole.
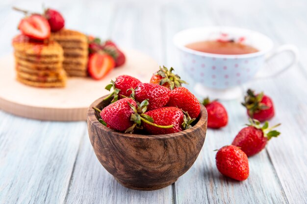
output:
M259 50L242 43L236 43L233 41L200 41L185 45L187 48L194 49L200 52L207 52L212 54L249 54Z

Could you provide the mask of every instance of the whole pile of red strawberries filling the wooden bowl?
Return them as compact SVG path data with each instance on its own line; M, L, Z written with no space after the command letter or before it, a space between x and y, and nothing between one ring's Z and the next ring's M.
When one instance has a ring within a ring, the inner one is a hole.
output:
M185 83L173 73L173 68L160 68L150 81L121 75L105 89L113 90L110 105L99 110L100 122L124 133L151 135L171 134L191 127L201 112L196 96L184 87Z

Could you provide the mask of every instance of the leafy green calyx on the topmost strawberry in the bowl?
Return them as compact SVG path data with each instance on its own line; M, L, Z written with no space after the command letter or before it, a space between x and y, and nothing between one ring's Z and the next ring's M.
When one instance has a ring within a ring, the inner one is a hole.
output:
M163 66L163 68L159 68L159 70L155 73L155 75L162 76L162 79L159 83L159 85L163 86L165 83L168 83L170 86L170 89L173 90L175 88L181 87L182 84L188 84L185 81L180 79L180 76L173 73L174 68L166 68Z

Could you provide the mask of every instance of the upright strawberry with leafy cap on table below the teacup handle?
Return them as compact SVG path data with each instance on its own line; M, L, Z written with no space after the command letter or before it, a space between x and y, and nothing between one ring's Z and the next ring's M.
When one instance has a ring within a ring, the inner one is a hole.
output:
M274 105L272 99L264 95L263 92L255 94L252 90L247 90L244 97L243 106L247 109L247 114L260 122L269 120L274 116Z

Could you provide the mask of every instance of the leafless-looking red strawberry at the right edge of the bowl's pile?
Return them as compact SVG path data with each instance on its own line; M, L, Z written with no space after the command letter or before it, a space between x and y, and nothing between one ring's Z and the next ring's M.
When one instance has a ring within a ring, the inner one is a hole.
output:
M197 118L201 113L201 104L193 93L184 87L171 91L170 100L167 106L174 106L189 113L191 118Z

